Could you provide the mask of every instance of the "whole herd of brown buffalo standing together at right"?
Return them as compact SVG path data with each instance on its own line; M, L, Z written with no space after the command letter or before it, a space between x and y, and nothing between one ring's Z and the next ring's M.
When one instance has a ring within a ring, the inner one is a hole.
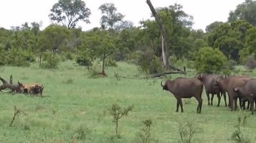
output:
M256 79L249 76L197 74L193 78L178 77L174 80L166 80L164 84L162 82L163 90L171 92L177 99L176 112L179 111L179 106L181 112L183 112L182 98L195 97L198 101L197 113L201 113L203 88L207 96L208 106L212 105L214 95L218 97L218 107L220 106L221 96L223 96L225 106L228 106L231 110L237 110L238 99L240 107L243 109L245 109L245 103L248 102L247 109L250 109L251 114L254 110L253 105L256 104Z

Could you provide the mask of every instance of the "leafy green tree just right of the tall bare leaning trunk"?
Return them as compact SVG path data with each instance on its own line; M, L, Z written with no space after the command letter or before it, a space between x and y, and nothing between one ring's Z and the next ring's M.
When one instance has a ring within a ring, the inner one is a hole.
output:
M182 5L174 4L157 10L167 27L169 48L178 59L186 58L190 47L193 46L188 42L193 16L186 14L182 8Z

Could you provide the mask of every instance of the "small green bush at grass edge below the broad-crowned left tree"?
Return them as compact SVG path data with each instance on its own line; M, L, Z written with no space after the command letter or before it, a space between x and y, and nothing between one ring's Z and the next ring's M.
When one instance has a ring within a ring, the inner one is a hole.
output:
M41 63L40 67L43 69L56 69L58 68L60 58L57 54L55 54L55 57L53 58L52 52L45 52L43 54L46 58L44 62Z

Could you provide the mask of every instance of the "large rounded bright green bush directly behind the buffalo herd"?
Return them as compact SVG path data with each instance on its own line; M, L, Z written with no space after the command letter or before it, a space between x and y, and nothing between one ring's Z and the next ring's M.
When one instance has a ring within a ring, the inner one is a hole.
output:
M200 73L224 73L228 74L228 62L225 55L219 49L210 47L201 48L197 54L195 68Z

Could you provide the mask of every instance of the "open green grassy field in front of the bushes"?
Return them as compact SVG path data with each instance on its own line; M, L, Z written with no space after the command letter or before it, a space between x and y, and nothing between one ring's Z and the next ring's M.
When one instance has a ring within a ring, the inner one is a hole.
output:
M193 121L200 130L195 134L195 142L233 142L232 133L238 124L238 111L230 111L224 106L207 106L203 92L202 114L196 113L197 101L185 104L184 112L176 113L176 99L167 91L162 91L161 79L117 80L114 72L133 77L139 73L135 66L118 63L116 68L106 69L108 77L88 78L88 71L62 63L58 70L41 70L37 65L29 68L1 67L0 75L9 80L24 83L44 84L45 98L27 95L0 93L0 142L137 142L137 134L143 120L153 121L152 137L157 142L181 142L179 123ZM173 75L176 78L181 75ZM107 109L117 102L121 106L134 105L127 117L119 121L120 136L113 139L115 126ZM14 106L26 115L9 124ZM248 112L249 113L249 112ZM256 115L247 119L242 132L256 142ZM83 134L82 139L75 136ZM86 134L86 135L85 135ZM73 138L73 139L72 139Z

